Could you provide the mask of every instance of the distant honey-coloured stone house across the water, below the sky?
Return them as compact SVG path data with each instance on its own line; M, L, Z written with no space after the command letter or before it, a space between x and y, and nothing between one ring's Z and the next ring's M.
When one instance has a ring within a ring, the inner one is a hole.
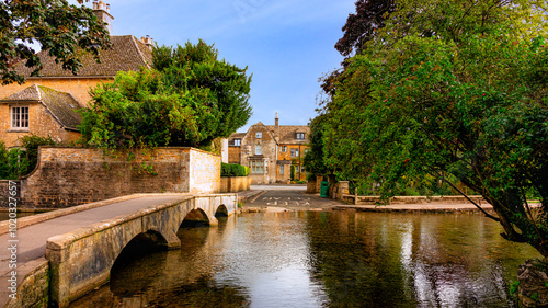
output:
M255 184L289 182L292 166L296 179L306 180L302 159L310 127L279 125L277 114L274 122L274 125L259 122L247 133L232 134L228 139L229 162L249 167Z

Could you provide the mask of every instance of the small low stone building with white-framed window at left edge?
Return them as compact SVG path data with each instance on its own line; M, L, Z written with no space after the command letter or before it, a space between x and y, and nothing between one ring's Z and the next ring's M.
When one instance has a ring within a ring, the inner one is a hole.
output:
M34 134L55 141L80 137L80 103L70 94L33 84L0 100L0 140L8 148L20 147L21 137Z

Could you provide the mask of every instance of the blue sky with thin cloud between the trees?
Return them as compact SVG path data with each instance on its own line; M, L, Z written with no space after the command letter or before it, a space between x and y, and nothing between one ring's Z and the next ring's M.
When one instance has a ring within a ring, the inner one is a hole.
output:
M355 0L112 0L113 34L150 35L160 45L203 38L220 58L253 75L258 122L306 125L316 116L318 79L340 67L334 44ZM91 2L87 5L91 7Z

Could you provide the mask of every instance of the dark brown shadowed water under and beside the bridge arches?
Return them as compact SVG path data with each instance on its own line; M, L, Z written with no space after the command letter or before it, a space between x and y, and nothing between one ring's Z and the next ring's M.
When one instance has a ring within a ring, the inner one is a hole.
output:
M209 249L220 244L230 225L227 217L218 220L215 228L195 220L183 224L178 231L181 250L165 251L156 232L137 236L116 259L111 281L70 307L248 307L242 287L213 278Z

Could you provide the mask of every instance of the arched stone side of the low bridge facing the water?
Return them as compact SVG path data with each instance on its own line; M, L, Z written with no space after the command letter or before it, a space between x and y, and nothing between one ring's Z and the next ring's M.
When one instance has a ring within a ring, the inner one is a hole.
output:
M228 216L236 209L237 195L187 195L50 237L46 246L50 305L67 307L71 300L109 281L112 265L130 241L176 249L181 246L176 232L183 224L199 221L215 226L216 216Z

